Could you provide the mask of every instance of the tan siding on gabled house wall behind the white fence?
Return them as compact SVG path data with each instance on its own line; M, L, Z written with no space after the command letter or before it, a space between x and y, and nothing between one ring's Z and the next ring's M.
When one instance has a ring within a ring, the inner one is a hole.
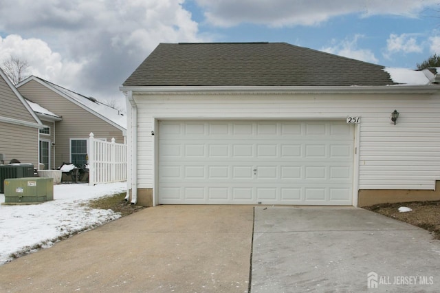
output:
M93 132L95 138L106 138L107 141L115 138L116 142L124 142L122 131L34 80L19 87L19 91L32 102L63 118L56 122L56 144L52 147L56 167L70 162L70 138L89 138L89 133Z

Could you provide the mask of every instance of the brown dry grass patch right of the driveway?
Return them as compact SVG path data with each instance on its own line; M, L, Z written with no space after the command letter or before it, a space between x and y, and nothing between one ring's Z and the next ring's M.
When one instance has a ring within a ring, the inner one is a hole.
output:
M401 206L411 208L412 212L400 213ZM428 230L435 239L440 239L440 201L375 204L364 208Z

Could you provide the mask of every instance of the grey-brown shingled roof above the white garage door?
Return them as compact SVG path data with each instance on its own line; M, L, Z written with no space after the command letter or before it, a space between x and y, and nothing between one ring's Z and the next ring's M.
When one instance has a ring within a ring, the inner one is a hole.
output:
M135 86L393 85L384 67L287 43L161 43Z

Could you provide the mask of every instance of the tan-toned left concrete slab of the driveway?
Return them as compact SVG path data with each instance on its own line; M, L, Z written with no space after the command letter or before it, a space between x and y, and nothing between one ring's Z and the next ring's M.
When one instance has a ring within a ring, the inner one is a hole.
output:
M157 206L0 266L0 292L247 292L252 206Z

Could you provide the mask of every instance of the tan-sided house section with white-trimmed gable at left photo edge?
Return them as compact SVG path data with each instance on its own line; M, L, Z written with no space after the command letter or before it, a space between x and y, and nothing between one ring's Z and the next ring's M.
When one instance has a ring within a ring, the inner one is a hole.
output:
M12 159L39 167L39 129L44 125L0 69L0 164Z

